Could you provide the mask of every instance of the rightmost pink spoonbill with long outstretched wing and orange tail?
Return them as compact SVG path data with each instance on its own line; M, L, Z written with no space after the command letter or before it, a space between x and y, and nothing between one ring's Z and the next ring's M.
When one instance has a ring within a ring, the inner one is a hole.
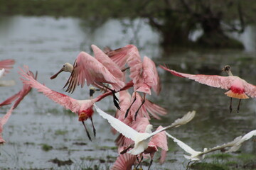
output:
M168 72L171 72L171 74L174 74L177 77L186 77L188 79L198 81L201 84L206 84L208 86L228 90L227 92L225 92L225 95L230 97L230 113L232 111L232 98L239 99L237 109L237 112L239 112L241 99L249 98L247 95L251 96L252 98L256 97L256 86L247 83L244 79L241 79L240 77L233 76L229 65L226 65L222 69L223 72L228 72L228 77L203 74L185 74L181 72L176 72L161 65L160 67Z

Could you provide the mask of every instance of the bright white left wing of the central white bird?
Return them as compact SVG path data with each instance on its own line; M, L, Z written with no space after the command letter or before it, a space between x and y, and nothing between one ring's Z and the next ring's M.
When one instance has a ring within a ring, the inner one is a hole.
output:
M139 135L139 132L134 130L133 128L129 127L125 123L122 123L122 121L118 120L117 118L114 118L112 115L109 115L102 111L100 108L98 108L96 105L94 105L96 108L97 113L99 113L102 118L107 119L107 121L112 125L112 127L117 130L118 132L122 133L125 137L128 137L129 139L135 141L136 136Z

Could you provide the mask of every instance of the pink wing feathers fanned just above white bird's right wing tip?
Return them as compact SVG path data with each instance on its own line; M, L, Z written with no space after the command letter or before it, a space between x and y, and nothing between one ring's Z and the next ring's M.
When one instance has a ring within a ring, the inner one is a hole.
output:
M161 106L158 106L147 99L145 99L144 106L146 108L146 111L148 111L156 119L161 119L159 115L167 114L167 111L165 108L162 108Z

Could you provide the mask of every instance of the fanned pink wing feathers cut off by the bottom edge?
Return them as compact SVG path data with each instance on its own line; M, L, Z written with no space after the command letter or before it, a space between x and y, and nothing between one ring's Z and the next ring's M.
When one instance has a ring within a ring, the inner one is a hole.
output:
M136 161L136 155L132 154L120 154L119 157L117 157L117 160L114 162L114 165L112 166L112 170L131 170L132 165L134 165L134 162Z

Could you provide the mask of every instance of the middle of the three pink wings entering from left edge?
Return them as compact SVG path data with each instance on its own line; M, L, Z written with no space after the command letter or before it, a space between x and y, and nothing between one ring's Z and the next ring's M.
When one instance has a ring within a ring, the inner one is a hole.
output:
M28 68L26 68L28 69ZM37 72L36 72L36 76L34 76L33 72L28 71L26 74L31 75L31 77L33 77L33 79L37 79ZM31 91L31 86L28 84L23 84L23 87L21 89L21 91L18 91L17 94L14 94L14 96L11 96L9 98L7 98L5 101L3 101L2 103L0 103L0 107L1 106L5 106L5 105L9 105L11 104L13 101L15 101L14 103L14 108L16 108L18 106L18 104L23 100L23 98ZM17 99L18 98L18 99Z

